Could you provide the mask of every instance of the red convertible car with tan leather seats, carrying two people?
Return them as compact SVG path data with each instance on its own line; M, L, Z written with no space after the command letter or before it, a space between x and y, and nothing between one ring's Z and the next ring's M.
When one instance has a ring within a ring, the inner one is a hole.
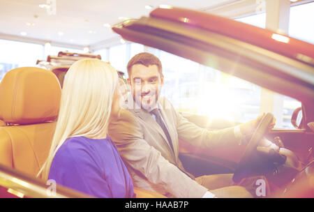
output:
M112 30L125 40L176 54L299 100L302 106L294 111L291 120L294 130L267 131L272 115L265 114L247 146L208 151L180 141L179 157L195 176L234 173L234 181L240 181L262 174L272 190L267 197L314 197L312 44L224 17L171 6L157 8L149 17L125 20ZM0 84L0 119L6 125L0 127L0 197L5 193L32 197L29 190L35 189L28 185L35 182L47 187L35 175L50 148L60 87L45 81L44 75L51 72L31 77L36 68L27 69L20 75L19 70L11 70ZM204 116L187 119L210 129L237 124L209 123ZM136 192L137 197L161 197L144 190ZM64 188L60 195L82 194L66 192Z

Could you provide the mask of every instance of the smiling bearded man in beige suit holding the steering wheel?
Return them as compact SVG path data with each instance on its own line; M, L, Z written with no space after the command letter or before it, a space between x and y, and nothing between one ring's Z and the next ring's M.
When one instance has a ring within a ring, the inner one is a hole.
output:
M251 188L234 185L232 174L195 178L186 172L178 158L178 139L208 149L241 144L241 137L253 132L260 118L223 130L199 128L159 97L164 79L156 56L137 54L127 69L132 93L128 109L121 109L108 130L135 186L167 197L252 197L248 192Z

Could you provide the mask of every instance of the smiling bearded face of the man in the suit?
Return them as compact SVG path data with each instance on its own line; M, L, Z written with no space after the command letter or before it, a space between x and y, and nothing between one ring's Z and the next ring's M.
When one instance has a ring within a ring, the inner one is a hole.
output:
M132 88L133 99L137 105L147 110L156 107L160 89L163 85L163 75L160 75L158 66L133 65L128 84Z

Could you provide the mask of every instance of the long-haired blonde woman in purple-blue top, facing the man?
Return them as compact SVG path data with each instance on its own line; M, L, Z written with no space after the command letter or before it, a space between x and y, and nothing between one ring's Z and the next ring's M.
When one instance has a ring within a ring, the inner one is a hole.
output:
M119 113L118 85L117 71L108 63L73 63L63 82L43 179L94 197L133 197L128 170L107 135L110 116Z

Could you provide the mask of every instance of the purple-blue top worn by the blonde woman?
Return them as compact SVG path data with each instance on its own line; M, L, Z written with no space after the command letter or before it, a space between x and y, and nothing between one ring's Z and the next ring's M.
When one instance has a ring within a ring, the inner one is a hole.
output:
M94 197L134 197L133 183L110 137L70 137L57 151L49 179Z

